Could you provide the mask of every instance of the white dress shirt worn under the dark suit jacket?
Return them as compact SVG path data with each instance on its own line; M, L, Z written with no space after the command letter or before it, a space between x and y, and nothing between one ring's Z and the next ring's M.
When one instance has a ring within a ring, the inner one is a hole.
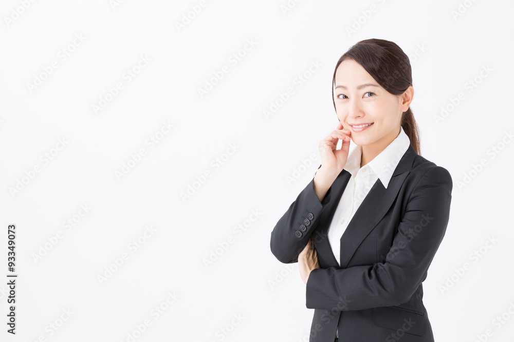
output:
M360 167L362 146L357 145L348 155L343 169L350 172L352 176L348 179L348 184L344 188L343 195L339 200L334 217L328 228L328 242L339 266L341 266L339 255L340 240L348 223L350 223L353 215L359 209L360 204L368 195L377 179L380 179L384 188L387 189L394 169L396 169L401 157L409 148L410 143L409 137L400 126L400 133L391 144L362 168ZM336 329L336 337L338 335L339 329Z

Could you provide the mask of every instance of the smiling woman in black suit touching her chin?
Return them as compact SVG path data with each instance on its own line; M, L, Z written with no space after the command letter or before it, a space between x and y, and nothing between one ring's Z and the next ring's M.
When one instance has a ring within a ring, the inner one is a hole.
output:
M315 309L309 341L434 341L421 283L446 232L453 183L420 156L409 58L393 42L366 39L339 58L332 87L339 124L273 228L271 252L298 262Z

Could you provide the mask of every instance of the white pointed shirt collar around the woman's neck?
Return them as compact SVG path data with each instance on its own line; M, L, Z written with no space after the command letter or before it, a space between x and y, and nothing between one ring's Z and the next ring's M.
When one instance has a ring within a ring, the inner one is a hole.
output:
M386 147L382 152L380 152L371 162L366 164L366 167L371 168L371 170L378 175L380 182L382 182L383 186L387 189L389 185L389 181L393 176L393 172L396 169L396 166L400 162L401 157L407 149L409 148L411 142L403 128L400 126L400 133L396 136L396 138ZM355 149L350 153L348 158L346 159L346 165L344 166L344 170L350 172L352 177L355 178L357 172L360 170L360 159L362 156L362 146L357 145Z

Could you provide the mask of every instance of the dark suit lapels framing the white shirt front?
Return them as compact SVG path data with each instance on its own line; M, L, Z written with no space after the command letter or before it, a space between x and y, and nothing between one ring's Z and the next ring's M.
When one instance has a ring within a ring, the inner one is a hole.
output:
M337 205L339 204L339 200L351 177L348 171L341 171L332 185L333 198L329 207L326 208L328 215L325 216L323 222L320 222L322 226L315 234L318 235L315 236L315 242L317 240L316 249L319 251L318 257L321 259L320 261L323 261L326 267L347 267L362 240L375 228L393 204L403 181L412 169L412 163L416 155L417 153L412 145L409 145L409 148L403 154L393 172L388 188L386 189L382 185L382 182L380 182L380 179L377 179L370 189L370 192L364 198L341 236L339 254L341 266L339 266L328 242L327 232Z

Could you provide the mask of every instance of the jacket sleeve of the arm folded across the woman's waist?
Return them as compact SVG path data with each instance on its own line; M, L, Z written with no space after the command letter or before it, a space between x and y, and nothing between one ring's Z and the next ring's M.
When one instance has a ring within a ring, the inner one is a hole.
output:
M453 183L434 166L414 187L386 260L370 266L311 271L309 309L362 310L408 301L421 282L446 232Z

